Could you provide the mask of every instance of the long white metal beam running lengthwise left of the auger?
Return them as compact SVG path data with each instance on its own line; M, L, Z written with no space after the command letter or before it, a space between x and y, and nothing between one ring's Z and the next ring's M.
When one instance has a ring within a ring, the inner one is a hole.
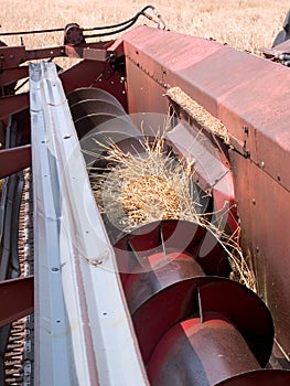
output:
M148 385L53 63L30 65L35 384Z

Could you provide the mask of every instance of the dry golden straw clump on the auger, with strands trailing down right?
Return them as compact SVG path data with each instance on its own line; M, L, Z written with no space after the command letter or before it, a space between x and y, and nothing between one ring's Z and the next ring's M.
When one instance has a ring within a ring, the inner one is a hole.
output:
M253 270L238 245L239 228L228 235L219 228L227 216L203 213L194 192L194 164L164 151L164 139L141 142L141 152L123 152L117 144L103 144L105 169L89 169L96 203L111 223L126 232L158 219L186 219L205 227L227 254L232 279L256 291ZM98 144L100 144L98 142ZM212 218L215 218L213 222ZM217 221L218 218L218 221Z

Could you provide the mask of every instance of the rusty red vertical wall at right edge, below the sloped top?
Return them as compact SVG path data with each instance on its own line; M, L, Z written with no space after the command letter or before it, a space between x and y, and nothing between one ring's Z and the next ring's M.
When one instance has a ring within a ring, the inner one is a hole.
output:
M289 357L289 192L238 153L232 152L230 159L244 246L253 253L259 294L272 313L276 339Z

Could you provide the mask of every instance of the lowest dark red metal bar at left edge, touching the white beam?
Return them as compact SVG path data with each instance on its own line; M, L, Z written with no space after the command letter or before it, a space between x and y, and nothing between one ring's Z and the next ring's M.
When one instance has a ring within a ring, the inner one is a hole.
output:
M33 312L33 277L0 281L0 326Z

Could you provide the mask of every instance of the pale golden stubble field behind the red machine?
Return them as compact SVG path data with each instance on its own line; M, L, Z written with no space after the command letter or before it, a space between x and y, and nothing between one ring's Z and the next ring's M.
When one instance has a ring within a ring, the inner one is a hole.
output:
M212 37L239 50L259 53L271 46L281 30L290 1L281 0L155 0L171 30ZM0 32L63 28L77 22L83 28L106 25L129 19L148 4L140 0L2 0ZM150 22L140 18L138 23ZM0 36L7 44L20 37ZM62 44L63 34L23 36L28 47Z

